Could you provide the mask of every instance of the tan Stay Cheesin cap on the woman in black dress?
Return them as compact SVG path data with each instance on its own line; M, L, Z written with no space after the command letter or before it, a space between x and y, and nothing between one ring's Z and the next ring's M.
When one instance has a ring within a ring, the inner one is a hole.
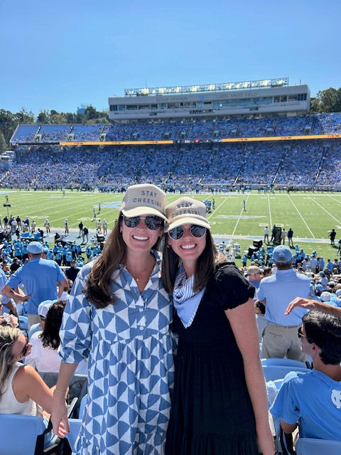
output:
M206 205L193 198L180 198L167 205L166 217L169 223L166 232L188 223L211 228L206 218Z

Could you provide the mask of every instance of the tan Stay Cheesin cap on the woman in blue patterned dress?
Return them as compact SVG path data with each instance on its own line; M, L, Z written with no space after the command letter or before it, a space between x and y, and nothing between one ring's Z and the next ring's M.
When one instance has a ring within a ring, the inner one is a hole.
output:
M126 189L119 210L126 217L156 215L167 221L165 207L166 193L155 185L142 183Z

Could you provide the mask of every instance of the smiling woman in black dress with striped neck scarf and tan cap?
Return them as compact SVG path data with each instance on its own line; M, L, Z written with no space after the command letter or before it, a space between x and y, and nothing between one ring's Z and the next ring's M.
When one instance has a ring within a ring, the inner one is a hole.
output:
M166 455L273 455L254 287L220 263L205 204L180 198L166 216L162 279L179 337Z

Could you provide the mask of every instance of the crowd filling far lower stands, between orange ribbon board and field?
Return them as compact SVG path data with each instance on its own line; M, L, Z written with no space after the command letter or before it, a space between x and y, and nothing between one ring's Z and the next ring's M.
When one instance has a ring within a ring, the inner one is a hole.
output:
M190 191L233 186L340 186L340 141L31 147L0 170L3 188L99 188L154 181ZM72 156L72 159L70 157Z

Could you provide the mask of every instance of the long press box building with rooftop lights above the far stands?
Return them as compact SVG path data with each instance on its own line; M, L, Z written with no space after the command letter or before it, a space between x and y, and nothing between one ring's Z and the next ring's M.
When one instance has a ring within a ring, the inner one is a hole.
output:
M109 119L197 119L226 115L298 115L309 112L308 85L288 77L224 84L126 89L109 97Z

